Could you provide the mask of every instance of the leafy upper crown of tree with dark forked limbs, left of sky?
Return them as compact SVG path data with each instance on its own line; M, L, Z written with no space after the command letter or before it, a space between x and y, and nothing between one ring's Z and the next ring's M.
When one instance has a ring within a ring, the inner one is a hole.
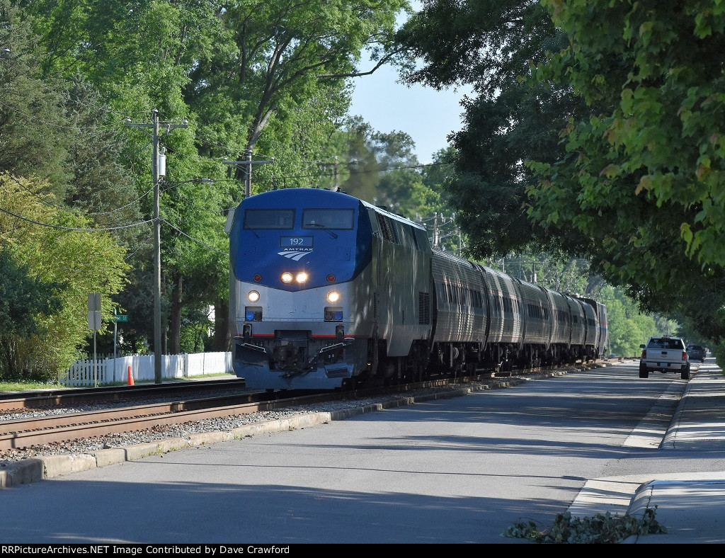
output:
M355 64L368 48L378 63L395 59L395 16L405 0L240 1L220 13L231 41L200 59L189 92L204 104L207 93L229 99L245 131L245 151L254 151L270 120L315 97L345 99L344 80L363 75ZM193 93L192 93L193 92ZM190 103L191 104L191 103ZM244 152L239 152L239 159Z

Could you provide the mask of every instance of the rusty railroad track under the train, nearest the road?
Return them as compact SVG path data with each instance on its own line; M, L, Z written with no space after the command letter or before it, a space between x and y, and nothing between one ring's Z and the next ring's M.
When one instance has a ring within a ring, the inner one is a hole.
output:
M554 370L563 371L580 368L581 365L572 365L547 369L522 370L518 374L514 373L513 377L536 375L537 373ZM507 373L507 376L510 376L510 374ZM0 420L0 451L24 449L41 446L43 444L78 441L86 438L137 432L140 430L152 430L164 425L179 425L185 422L231 417L233 415L246 415L286 407L302 407L327 401L365 399L372 396L386 396L396 393L405 394L426 388L445 388L454 385L465 386L466 383L486 381L493 383L500 380L501 378L496 378L491 372L484 372L482 375L470 377L428 380L419 383L357 391L244 393L222 397L188 399L186 401L156 402L90 412L57 413L42 417L22 418L20 420ZM218 389L222 385L223 383L217 383L216 388ZM239 387L238 382L236 386ZM199 386L194 387L198 388ZM160 390L156 393L160 393ZM91 395L86 394L86 396ZM136 395L136 393L133 394L134 397ZM106 394L104 397L108 396L109 394ZM126 397L128 396L129 394L126 392ZM56 401L57 395L46 397L50 397ZM112 398L115 398L115 396L112 396Z

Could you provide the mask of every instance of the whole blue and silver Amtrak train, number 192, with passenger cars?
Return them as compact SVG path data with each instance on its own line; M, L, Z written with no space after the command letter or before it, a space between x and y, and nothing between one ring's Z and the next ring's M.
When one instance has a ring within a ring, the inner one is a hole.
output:
M423 225L289 188L230 215L233 366L249 388L334 389L596 359L607 310L431 249Z

